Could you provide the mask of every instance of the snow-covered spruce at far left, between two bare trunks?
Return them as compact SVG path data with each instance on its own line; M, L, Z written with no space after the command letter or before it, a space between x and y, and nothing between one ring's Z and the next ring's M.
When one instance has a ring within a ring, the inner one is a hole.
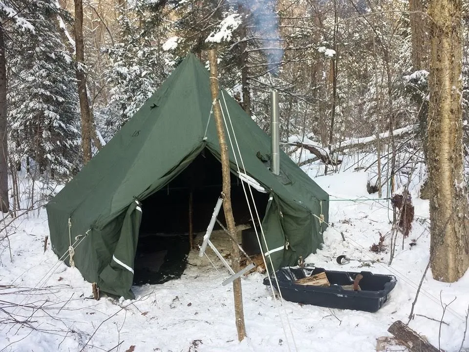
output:
M55 0L18 0L34 32L7 44L11 162L69 177L79 162L79 114L72 60L60 40ZM61 14L63 18L66 14Z

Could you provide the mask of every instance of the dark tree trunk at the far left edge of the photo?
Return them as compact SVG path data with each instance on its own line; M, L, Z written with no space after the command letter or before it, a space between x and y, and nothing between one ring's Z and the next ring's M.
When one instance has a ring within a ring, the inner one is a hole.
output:
M8 131L7 131L7 80L5 38L3 25L0 23L0 211L8 213Z

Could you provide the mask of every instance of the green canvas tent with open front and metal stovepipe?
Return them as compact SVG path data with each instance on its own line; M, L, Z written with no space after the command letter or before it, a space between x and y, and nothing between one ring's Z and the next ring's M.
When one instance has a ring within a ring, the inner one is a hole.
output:
M267 191L265 198L259 198L263 203L257 208L269 255L276 268L296 264L299 256L306 258L322 243L325 223L318 217L322 214L328 221L329 196L282 152L280 175L272 174L269 136L222 92L226 105L220 98L221 106L232 120L244 161L241 172ZM131 286L142 217L149 214L147 222L155 227L153 232L165 231L158 228L160 225L186 224L187 207L181 206L185 196L177 190L187 186L187 179L192 189L197 183L207 186L199 190L199 203L194 204L194 211L200 210L197 220L207 228L221 192L220 152L211 107L209 73L190 54L112 140L49 201L46 209L52 248L63 258L73 245L73 262L85 280L96 282L104 292L133 298ZM232 182L239 185L231 148L230 162ZM172 187L174 183L178 187ZM235 202L238 199L234 211L243 204L240 199L247 206L239 187L232 188L232 192L238 196L232 194ZM235 221L239 221L236 214Z

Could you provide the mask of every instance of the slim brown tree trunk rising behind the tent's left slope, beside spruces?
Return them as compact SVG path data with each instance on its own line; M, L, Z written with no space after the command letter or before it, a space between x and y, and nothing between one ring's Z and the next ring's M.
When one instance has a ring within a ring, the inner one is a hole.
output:
M91 111L89 109L88 93L86 91L85 77L85 53L83 43L83 2L75 2L75 51L76 51L76 75L78 81L78 97L80 99L80 112L82 117L82 150L83 163L91 159Z

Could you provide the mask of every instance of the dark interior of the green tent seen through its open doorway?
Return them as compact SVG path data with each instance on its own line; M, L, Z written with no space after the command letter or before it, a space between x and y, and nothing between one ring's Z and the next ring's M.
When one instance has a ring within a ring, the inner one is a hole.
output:
M246 184L245 188L256 218ZM135 255L134 284L160 284L182 275L190 251L190 222L194 234L205 233L221 190L221 163L204 149L181 174L142 201L143 213ZM262 221L269 195L254 188L252 190ZM242 246L249 255L256 254L259 248L254 222L249 213L242 182L233 173L231 201L236 224L251 225L250 229L243 231ZM223 207L217 219L226 227ZM256 225L258 228L257 221ZM221 226L215 223L213 229L221 229ZM194 245L198 248L197 243L194 242Z

